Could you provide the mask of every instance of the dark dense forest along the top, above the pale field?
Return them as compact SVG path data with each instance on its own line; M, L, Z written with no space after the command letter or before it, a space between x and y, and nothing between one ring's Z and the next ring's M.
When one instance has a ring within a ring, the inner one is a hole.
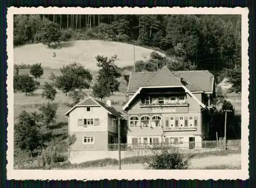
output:
M14 45L40 42L45 21L78 39L132 42L219 72L241 65L240 15L15 15ZM37 39L38 38L38 39Z

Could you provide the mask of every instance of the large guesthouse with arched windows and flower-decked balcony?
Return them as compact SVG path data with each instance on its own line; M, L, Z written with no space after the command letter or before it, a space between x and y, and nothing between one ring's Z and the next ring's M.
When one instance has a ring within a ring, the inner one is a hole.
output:
M127 96L127 144L201 147L215 105L207 70L131 73Z

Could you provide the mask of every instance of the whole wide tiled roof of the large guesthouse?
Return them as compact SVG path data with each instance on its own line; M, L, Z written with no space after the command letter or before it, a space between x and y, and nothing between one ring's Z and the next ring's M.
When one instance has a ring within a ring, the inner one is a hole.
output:
M164 69L164 74L161 74L162 69ZM169 72L168 74L166 69ZM157 81L154 81L153 77L157 79ZM208 70L189 70L171 72L166 66L164 66L159 70L159 72L131 73L127 93L135 93L137 89L141 86L163 86L166 84L176 85L178 84L176 79L177 77L185 82L184 85L190 91L212 92L214 76Z

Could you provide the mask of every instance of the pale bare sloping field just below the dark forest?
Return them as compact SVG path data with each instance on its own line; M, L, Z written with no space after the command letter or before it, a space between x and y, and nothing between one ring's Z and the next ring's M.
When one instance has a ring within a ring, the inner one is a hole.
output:
M56 56L53 57L55 52ZM153 50L135 46L135 60L146 60ZM162 53L159 53L162 54ZM133 65L134 47L132 44L101 40L77 40L61 43L60 49L49 49L44 44L27 44L14 48L15 64L41 62L43 67L58 69L62 65L81 63L84 67L96 70L97 55L111 57L117 55L119 67ZM163 54L162 54L163 55Z

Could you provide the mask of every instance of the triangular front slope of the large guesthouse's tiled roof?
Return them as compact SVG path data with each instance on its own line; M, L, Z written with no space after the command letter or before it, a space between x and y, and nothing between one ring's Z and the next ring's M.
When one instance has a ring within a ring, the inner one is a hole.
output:
M175 86L183 85L181 79L175 76L167 66L164 66L151 79L149 79L143 86Z

